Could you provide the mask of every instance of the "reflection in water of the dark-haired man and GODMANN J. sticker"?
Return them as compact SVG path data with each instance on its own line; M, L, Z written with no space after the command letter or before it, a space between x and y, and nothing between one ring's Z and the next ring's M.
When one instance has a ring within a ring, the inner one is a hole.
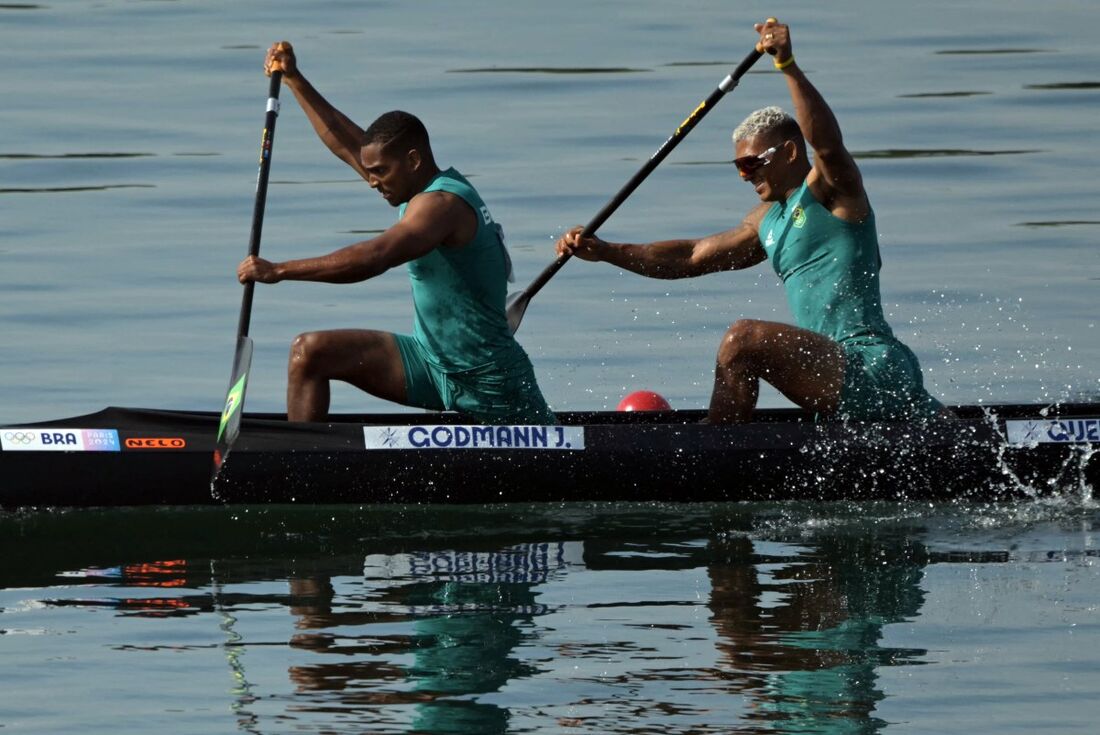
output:
M290 579L290 612L301 630L290 646L315 654L290 667L309 701L295 709L354 712L391 725L400 717L386 711L411 709L414 732L505 732L508 710L476 695L538 671L513 651L522 629L548 612L535 589L564 569L562 550L541 544L372 555L364 568L370 611L348 610L355 605L336 600L327 577ZM365 636L355 634L361 626L370 626ZM411 662L394 662L406 658Z

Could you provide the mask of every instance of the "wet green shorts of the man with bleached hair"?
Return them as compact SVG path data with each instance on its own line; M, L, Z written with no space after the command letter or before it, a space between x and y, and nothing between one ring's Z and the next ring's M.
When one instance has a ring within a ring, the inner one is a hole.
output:
M897 340L849 340L836 418L897 421L933 418L943 404L924 390L916 355Z

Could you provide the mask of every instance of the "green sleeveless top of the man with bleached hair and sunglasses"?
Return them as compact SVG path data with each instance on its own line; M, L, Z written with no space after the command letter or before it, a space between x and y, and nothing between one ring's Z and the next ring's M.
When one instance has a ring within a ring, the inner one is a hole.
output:
M799 327L840 343L893 339L882 314L875 212L846 222L803 182L787 201L772 205L759 234Z

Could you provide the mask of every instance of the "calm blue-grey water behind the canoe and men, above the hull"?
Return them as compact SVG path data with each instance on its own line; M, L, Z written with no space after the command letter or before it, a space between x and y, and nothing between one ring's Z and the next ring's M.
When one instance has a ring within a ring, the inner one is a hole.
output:
M293 41L310 79L356 120L420 114L441 162L470 175L505 223L526 283L774 12L716 1L3 4L0 420L220 408L273 40ZM860 153L889 318L933 392L949 403L1096 395L1091 8L847 0L779 14ZM286 97L262 252L328 252L388 226L393 210ZM762 64L603 234L646 241L739 221L754 197L732 167L691 164L728 162L729 131L770 103L789 99ZM790 319L767 265L656 282L571 263L519 337L556 408L609 408L636 388L700 407L718 337L744 317ZM402 272L260 288L250 407L282 408L296 333L410 321ZM766 391L762 404L785 402ZM334 408L384 405L339 388Z

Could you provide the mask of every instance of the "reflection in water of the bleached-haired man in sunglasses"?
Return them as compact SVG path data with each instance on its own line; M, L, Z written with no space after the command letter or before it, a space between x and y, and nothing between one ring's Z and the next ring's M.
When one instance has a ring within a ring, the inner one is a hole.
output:
M746 540L726 549L751 558ZM916 542L834 538L772 564L712 564L719 647L760 729L875 732L877 669L926 652L882 647L882 627L916 615L926 553ZM770 604L769 604L770 603ZM773 727L765 727L769 723Z

